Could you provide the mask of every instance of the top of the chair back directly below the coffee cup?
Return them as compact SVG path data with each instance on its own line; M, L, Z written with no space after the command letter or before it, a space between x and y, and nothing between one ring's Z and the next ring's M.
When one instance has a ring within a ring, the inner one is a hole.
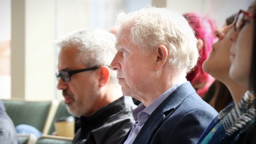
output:
M72 138L53 136L53 135L42 135L36 142L36 144L71 144Z

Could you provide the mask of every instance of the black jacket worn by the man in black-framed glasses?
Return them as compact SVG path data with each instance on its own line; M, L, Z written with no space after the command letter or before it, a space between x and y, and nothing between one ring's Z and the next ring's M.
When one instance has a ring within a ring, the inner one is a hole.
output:
M73 144L118 144L134 123L131 97L122 96L90 116L81 116Z

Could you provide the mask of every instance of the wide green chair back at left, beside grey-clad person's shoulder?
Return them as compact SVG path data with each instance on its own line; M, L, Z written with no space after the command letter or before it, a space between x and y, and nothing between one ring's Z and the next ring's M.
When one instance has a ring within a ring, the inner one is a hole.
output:
M6 113L10 116L15 126L27 124L43 132L52 101L3 100L3 102Z

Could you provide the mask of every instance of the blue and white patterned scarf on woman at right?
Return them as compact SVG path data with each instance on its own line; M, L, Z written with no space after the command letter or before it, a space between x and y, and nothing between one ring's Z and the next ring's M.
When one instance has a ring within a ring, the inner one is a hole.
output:
M238 140L256 116L255 93L247 91L237 105L229 105L215 118L215 126L203 138L201 144L230 144Z

